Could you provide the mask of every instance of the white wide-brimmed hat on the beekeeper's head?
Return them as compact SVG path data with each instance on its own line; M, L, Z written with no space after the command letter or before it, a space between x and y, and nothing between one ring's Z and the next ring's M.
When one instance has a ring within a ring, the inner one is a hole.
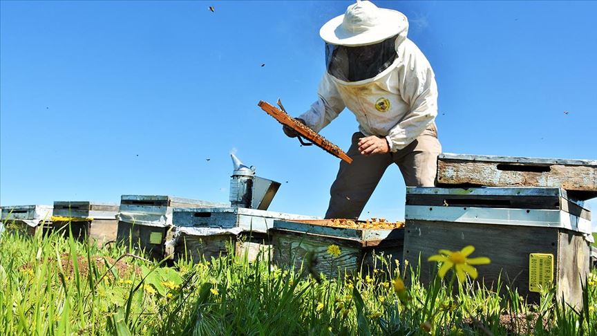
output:
M319 35L329 44L364 46L398 35L406 28L408 20L401 12L377 8L370 1L357 1L343 15L326 22Z

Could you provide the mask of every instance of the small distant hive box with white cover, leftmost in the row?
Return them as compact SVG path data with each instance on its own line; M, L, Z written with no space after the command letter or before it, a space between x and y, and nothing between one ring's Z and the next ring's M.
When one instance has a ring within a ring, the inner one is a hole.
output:
M3 230L34 235L39 230L43 234L51 231L51 205L14 205L1 208Z

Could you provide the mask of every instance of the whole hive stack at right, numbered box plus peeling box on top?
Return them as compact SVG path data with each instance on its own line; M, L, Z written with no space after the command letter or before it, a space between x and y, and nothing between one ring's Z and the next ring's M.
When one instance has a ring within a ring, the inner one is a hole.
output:
M435 273L428 256L473 245L473 257L492 261L479 267L487 286L501 277L537 302L555 285L569 304L582 302L592 240L582 201L597 195L596 161L442 154L437 183L451 188L406 195L404 258L420 254L421 280Z

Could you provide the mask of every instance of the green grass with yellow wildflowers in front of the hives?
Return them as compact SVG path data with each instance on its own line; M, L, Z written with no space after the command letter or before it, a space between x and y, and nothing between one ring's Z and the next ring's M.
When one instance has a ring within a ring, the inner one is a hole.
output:
M100 250L55 234L42 239L4 232L0 330L3 335L597 335L595 272L583 291L585 305L574 310L559 304L553 290L539 305L528 305L515 290L504 287L500 297L474 281L456 281L455 291L439 278L423 286L410 266L378 258L388 270L326 279L281 270L269 260L221 256L165 266L124 247ZM482 276L482 265L478 270ZM404 290L395 281L400 277L410 283Z

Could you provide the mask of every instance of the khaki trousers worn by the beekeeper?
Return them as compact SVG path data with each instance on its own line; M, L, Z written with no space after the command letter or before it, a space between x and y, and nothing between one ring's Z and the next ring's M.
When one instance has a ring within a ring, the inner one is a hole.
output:
M338 175L330 189L330 205L325 218L359 218L381 176L392 162L398 165L408 187L435 186L437 156L442 153L435 122L415 141L394 153L361 155L358 142L363 137L361 132L352 135L352 144L347 153L352 163L340 162Z

